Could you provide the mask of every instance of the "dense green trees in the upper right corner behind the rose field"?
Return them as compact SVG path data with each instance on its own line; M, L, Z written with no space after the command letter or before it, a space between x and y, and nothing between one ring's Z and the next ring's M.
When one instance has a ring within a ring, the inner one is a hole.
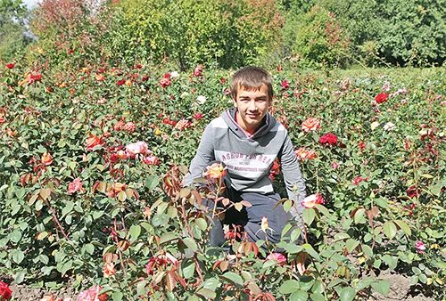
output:
M351 40L351 51L368 64L436 63L445 58L443 0L319 0L334 12Z

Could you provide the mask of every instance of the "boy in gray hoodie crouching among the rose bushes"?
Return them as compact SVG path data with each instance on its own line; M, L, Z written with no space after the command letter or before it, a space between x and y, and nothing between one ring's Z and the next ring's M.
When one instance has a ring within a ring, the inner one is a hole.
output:
M268 72L257 67L238 70L232 78L231 95L235 108L224 111L206 126L185 184L191 185L201 177L211 162L222 162L227 167L226 197L234 202L244 199L252 205L242 212L229 208L223 224L242 225L248 240L276 243L292 216L300 221L305 182L285 127L268 113L273 97ZM277 206L280 196L273 191L268 177L276 158L281 164L288 198L294 200L291 214L282 205ZM261 231L264 217L268 218L270 229L266 232ZM215 218L211 245L224 241L222 224Z

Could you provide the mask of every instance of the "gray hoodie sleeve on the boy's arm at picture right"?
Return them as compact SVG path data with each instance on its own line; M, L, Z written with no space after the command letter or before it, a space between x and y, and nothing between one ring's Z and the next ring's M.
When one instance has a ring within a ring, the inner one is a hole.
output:
M291 214L297 218L303 210L301 201L306 197L305 180L301 174L299 161L294 154L293 142L291 142L287 132L285 132L285 135L285 142L279 154L279 159L282 173L284 174L288 198L294 200L294 207L291 209Z

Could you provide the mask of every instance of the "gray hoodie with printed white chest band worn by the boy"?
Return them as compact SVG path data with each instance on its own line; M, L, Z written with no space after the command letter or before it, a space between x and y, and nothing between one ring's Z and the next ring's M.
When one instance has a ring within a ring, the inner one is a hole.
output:
M292 210L296 216L295 210L301 212L301 200L306 195L305 181L285 126L268 113L262 126L249 135L235 122L235 113L235 108L228 109L206 126L185 184L192 185L208 164L217 160L227 166L235 191L267 194L274 192L268 175L278 158L288 198L297 200Z

